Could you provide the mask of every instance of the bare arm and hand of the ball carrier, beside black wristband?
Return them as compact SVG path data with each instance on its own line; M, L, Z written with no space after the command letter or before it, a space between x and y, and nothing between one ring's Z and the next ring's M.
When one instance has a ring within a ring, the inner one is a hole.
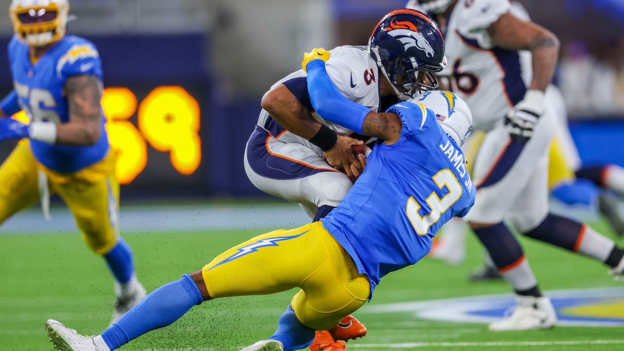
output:
M310 111L308 111L308 109L303 106L300 101L298 101L298 99L284 84L280 84L274 89L266 92L265 96L262 97L260 105L263 109L269 112L271 117L273 117L273 119L275 119L275 121L277 121L282 127L307 140L313 141L314 136L317 136L319 131L321 133L335 134L335 132L331 131L327 127L324 127L323 131L321 131L323 124L313 119ZM343 170L351 180L354 180L357 175L354 175L351 171L351 166L353 164L356 165L358 174L361 173L362 169L359 167L360 162L356 161L353 156L351 145L359 145L363 142L359 139L353 139L351 137L336 137L335 144L333 144L333 146L327 151L324 151L325 157L330 166L335 169Z

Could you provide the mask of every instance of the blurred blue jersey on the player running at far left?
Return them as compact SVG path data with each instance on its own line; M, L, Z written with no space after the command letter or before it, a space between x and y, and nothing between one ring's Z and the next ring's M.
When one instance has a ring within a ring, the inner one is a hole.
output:
M95 46L66 36L32 64L28 46L16 36L9 42L9 63L19 107L31 121L69 122L65 82L71 76L92 74L102 80L102 62ZM12 112L12 111L11 111ZM102 114L102 124L105 118ZM109 141L104 127L94 146L58 146L31 140L37 161L57 172L76 172L106 156Z

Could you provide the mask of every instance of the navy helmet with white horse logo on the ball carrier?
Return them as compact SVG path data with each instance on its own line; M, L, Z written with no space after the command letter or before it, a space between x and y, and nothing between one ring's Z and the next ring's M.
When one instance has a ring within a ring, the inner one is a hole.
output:
M416 10L386 14L373 30L368 50L402 100L417 91L437 89L433 72L446 67L442 32L436 22Z

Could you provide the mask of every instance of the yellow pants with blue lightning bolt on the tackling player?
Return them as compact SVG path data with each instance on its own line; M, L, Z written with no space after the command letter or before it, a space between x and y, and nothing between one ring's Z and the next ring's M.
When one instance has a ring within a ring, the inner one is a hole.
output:
M334 327L370 294L366 275L321 222L275 230L218 255L202 269L213 298L301 290L291 307L314 330Z

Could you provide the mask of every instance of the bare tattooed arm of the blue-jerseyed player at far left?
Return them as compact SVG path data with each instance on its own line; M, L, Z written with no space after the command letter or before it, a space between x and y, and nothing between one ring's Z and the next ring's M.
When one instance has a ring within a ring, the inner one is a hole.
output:
M94 145L102 133L102 82L90 74L65 82L69 122L57 127L56 144Z

